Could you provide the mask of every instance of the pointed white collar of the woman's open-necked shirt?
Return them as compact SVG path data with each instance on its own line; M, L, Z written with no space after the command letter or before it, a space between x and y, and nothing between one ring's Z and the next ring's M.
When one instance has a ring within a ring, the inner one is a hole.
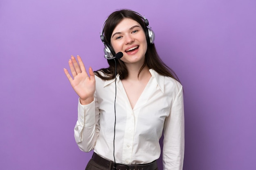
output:
M153 78L155 78L155 80L157 81L157 85L158 87L161 89L162 92L164 92L164 76L158 74L155 70L153 69L149 69L150 74L152 75ZM117 78L117 82L120 81L120 76L119 74L117 74L116 76ZM111 79L111 80L106 80L104 87L109 85L110 83L115 82L115 78Z

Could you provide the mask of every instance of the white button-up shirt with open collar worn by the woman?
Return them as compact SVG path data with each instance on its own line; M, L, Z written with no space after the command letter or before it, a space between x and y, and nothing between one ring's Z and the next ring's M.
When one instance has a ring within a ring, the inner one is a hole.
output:
M132 109L117 75L116 163L150 163L159 158L159 139L164 130L163 168L182 170L184 159L184 107L182 85L175 79L149 70L152 77ZM94 101L78 105L74 136L85 152L94 149L114 161L115 79L95 76Z

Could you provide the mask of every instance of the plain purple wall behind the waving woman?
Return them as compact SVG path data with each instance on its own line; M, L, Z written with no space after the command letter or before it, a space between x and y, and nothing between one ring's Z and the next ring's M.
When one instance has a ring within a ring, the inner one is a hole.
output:
M0 169L85 168L92 152L74 140L78 97L63 68L71 54L87 68L107 65L99 32L121 8L146 15L160 57L184 86L184 170L255 169L255 7L255 0L0 0Z

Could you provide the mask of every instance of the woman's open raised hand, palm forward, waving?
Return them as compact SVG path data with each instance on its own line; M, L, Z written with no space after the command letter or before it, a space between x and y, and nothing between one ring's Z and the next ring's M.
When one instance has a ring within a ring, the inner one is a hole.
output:
M74 56L71 56L71 59L68 61L73 78L70 76L67 69L64 68L64 72L74 91L78 94L81 104L87 105L94 100L95 76L92 68L90 67L89 77L81 57L77 56L77 61Z

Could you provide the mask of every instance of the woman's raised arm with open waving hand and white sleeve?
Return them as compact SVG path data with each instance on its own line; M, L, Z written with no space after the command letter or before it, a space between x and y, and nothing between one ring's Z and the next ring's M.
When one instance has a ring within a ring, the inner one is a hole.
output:
M70 81L74 91L79 96L78 119L74 128L74 137L79 148L89 152L94 148L99 134L99 109L95 93L95 76L92 68L89 68L89 75L81 57L71 56L69 60L71 70L70 76L67 69L64 72Z

